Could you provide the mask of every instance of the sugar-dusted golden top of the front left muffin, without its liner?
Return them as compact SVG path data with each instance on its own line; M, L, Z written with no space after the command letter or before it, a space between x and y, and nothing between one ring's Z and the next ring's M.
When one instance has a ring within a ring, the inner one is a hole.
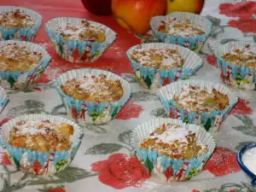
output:
M62 151L71 147L73 126L49 120L20 120L10 131L9 144L37 152Z

